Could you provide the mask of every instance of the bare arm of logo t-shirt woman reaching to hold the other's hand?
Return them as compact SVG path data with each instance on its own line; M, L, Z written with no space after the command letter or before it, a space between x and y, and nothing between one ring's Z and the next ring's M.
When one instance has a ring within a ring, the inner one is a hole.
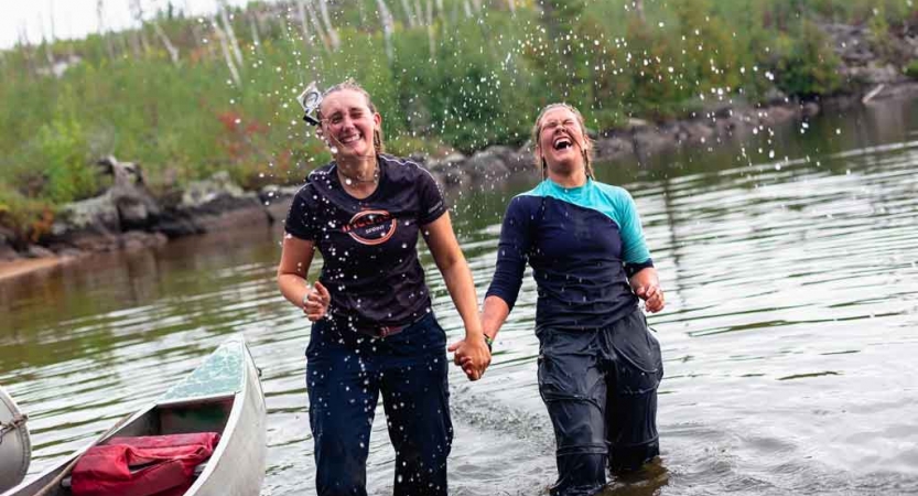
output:
M475 294L475 283L465 256L462 255L450 213L446 212L436 220L422 226L424 239L428 242L436 268L443 274L446 289L453 299L453 304L465 324L465 338L450 346L458 358L467 358L464 371L472 380L477 380L490 364L482 323L478 319L478 296ZM458 359L457 358L457 359Z

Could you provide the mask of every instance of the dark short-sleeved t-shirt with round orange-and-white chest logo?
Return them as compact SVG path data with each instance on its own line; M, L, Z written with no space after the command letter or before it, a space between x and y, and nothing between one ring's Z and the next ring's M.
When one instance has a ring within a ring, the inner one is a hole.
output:
M446 212L425 169L382 154L377 163L379 184L363 200L344 191L335 162L313 171L284 226L291 236L315 241L330 314L356 331L407 325L430 312L418 234Z

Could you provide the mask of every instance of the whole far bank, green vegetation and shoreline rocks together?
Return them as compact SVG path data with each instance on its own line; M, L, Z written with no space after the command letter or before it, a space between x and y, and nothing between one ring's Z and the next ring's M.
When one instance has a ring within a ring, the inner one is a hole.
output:
M0 52L0 279L282 219L331 159L294 101L311 80L360 82L388 151L446 187L531 171L550 101L584 111L606 161L918 95L910 0L218 4Z

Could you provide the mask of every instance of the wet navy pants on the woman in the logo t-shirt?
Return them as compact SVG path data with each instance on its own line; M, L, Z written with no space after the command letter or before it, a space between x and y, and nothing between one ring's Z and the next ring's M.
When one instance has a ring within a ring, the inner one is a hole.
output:
M379 398L396 449L395 496L446 495L453 442L446 335L433 314L382 338L313 324L306 348L318 496L367 494L370 427Z

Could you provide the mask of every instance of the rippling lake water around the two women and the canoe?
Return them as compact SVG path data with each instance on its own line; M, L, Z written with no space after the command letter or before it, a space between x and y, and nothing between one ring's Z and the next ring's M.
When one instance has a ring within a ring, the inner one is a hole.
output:
M609 495L918 493L918 105L827 111L732 143L600 164L635 196L667 289L661 463ZM537 180L453 197L479 296L499 222ZM279 295L281 235L238 230L0 283L0 384L30 414L31 473L244 333L269 408L262 495L314 493L307 323ZM422 241L421 241L422 242ZM461 335L423 257L434 308ZM485 378L451 375L454 495L543 495L554 439L527 276ZM370 494L391 494L377 412Z

